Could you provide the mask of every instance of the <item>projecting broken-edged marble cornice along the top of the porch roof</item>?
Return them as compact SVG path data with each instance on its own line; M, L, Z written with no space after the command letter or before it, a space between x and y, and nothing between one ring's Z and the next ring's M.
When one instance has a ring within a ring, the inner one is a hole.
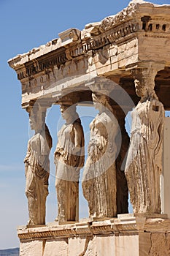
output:
M9 60L9 66L15 69L18 79L29 78L42 71L61 67L67 61L93 55L107 45L120 45L134 37L170 37L170 5L157 5L147 1L130 1L117 15L101 22L90 23L82 31L68 29L59 34L58 39L47 42L28 53Z

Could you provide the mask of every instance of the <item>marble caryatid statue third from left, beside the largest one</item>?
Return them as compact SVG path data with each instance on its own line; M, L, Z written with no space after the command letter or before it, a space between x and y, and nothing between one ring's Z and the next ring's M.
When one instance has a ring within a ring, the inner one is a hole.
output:
M116 167L117 119L109 97L93 93L93 105L99 111L90 123L88 159L82 177L82 191L88 200L90 217L115 217L117 214Z

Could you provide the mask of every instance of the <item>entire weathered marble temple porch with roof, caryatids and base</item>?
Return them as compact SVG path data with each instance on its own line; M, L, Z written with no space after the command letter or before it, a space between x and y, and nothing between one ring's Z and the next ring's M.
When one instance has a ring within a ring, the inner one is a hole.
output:
M22 108L36 131L25 159L30 222L18 228L20 256L170 254L170 133L169 119L164 120L164 110L170 110L169 39L170 5L134 0L116 15L89 23L82 31L63 31L46 45L9 60L22 86ZM58 219L48 224L45 200L52 138L45 115L53 105L61 106L66 124L55 150ZM90 125L87 162L77 105L99 110ZM139 135L137 140L143 138L138 145L132 137L130 143L125 130L125 116L133 109L142 116L142 123L136 121L131 131L131 136ZM143 124L150 127L145 134ZM68 141L74 146L65 146ZM129 145L131 156L138 158L127 157ZM83 166L82 189L90 214L80 222L77 183ZM64 176L71 169L74 176ZM134 214L128 214L128 190Z

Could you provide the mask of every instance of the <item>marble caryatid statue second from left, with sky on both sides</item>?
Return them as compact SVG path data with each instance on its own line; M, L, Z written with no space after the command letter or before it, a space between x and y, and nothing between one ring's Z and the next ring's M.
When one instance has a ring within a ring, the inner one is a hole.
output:
M61 103L61 116L66 120L58 132L55 149L56 180L58 198L58 222L78 221L79 178L84 165L84 133L76 105Z

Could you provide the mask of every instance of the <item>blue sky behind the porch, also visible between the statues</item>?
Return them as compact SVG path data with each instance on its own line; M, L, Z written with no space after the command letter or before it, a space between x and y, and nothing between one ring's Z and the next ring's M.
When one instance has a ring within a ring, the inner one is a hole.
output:
M155 0L156 4L170 4L170 0ZM128 6L121 1L40 1L0 0L0 77L1 77L1 143L0 143L0 249L19 246L16 228L28 220L25 196L23 158L30 137L28 114L21 108L20 81L7 61L19 53L45 44L57 38L58 33L69 28L83 29L85 24L99 21ZM80 108L80 111L84 111ZM96 115L82 120L88 141L87 124ZM53 107L47 115L47 124L53 136L53 151L57 141L57 123L60 111ZM86 124L86 125L85 125ZM50 195L47 199L47 222L53 222L57 214L54 187L53 151L50 156ZM87 217L88 207L81 197L81 217Z

